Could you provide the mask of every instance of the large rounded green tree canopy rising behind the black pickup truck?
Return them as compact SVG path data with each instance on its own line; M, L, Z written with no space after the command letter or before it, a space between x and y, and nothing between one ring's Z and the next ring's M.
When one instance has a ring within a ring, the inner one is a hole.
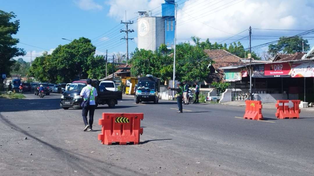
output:
M53 83L104 78L106 60L102 55L94 56L95 49L90 39L74 39L69 44L59 45L52 54L44 52L43 56L37 57L32 63L30 74L37 80ZM111 74L111 64L107 68L107 74Z

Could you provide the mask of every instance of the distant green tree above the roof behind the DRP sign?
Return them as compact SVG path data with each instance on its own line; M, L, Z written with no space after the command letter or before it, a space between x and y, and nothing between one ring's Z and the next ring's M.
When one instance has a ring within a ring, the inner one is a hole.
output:
M302 41L304 51L308 51L310 49L310 45L306 39L302 37L280 37L277 44L270 44L268 46L268 53L272 56L282 52L284 54L294 54L296 52L302 52Z

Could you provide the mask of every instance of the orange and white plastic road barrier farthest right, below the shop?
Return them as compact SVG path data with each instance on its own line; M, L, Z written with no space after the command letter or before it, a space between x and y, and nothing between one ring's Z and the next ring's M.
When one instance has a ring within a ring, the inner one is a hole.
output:
M300 118L300 102L300 100L277 100L275 116L279 119Z

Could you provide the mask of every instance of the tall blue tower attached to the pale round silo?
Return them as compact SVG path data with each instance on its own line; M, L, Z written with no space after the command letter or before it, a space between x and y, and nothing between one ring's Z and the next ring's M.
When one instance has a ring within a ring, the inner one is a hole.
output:
M174 47L175 39L175 1L161 4L161 17L165 19L165 44L168 49Z

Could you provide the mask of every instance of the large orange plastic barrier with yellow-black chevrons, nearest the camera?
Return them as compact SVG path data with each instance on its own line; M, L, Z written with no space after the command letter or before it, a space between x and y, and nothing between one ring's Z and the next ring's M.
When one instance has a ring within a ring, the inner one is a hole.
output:
M98 140L107 145L112 142L138 144L139 136L143 134L143 128L140 128L143 118L143 113L102 113L102 119L98 121L102 125Z

